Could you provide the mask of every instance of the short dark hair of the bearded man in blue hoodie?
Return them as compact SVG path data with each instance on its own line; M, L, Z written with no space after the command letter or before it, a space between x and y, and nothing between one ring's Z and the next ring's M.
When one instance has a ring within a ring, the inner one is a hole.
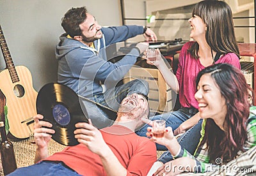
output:
M61 19L61 26L70 36L81 36L82 31L79 24L86 20L86 7L72 8L65 13L64 17Z

